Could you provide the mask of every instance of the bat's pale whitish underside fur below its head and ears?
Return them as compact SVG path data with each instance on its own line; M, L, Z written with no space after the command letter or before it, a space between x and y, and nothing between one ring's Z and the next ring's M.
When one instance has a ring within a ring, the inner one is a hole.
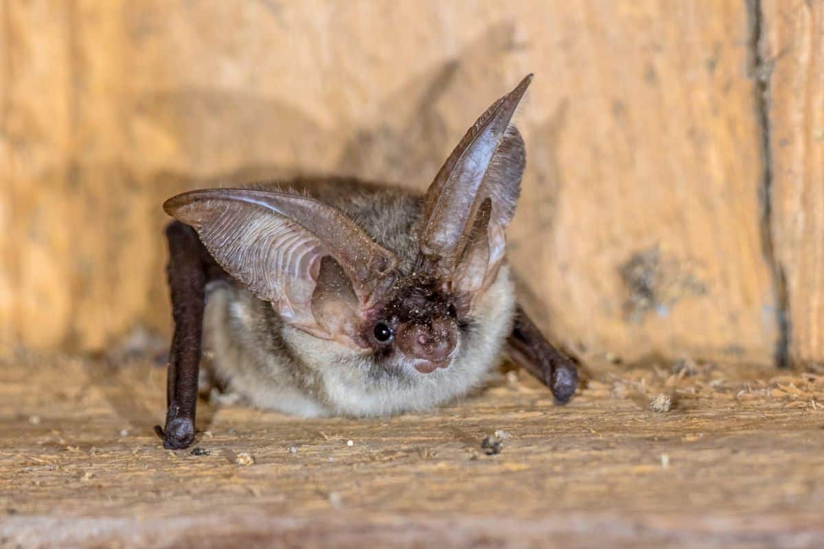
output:
M251 334L255 331L255 298L231 286L208 291L204 316L204 349L211 367L228 389L257 407L296 416L386 416L419 411L466 394L482 384L499 361L512 326L513 283L503 265L494 283L475 305L477 320L471 337L461 337L456 358L444 369L406 376L375 376L376 366L353 351L295 328L284 328L283 339L310 373L290 363L284 353L267 352ZM260 329L260 328L257 328ZM301 379L316 379L307 390Z

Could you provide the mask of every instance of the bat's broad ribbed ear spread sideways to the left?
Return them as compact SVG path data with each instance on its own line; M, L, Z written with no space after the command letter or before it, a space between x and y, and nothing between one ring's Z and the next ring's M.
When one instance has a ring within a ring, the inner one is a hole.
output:
M163 208L193 226L232 277L318 337L354 339L357 315L395 272L395 254L312 198L213 188L179 194Z

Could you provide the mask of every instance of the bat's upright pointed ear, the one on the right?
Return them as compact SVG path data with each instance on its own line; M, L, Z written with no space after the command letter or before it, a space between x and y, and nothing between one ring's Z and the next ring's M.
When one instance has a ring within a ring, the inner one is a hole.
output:
M447 158L424 199L421 253L463 291L489 286L505 247L526 165L523 140L510 125L532 80L495 101Z

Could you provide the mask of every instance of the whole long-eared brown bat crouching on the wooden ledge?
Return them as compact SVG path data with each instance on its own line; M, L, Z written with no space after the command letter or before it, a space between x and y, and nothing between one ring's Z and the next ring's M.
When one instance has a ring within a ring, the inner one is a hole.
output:
M531 75L466 132L424 196L349 179L170 198L170 449L213 379L298 416L421 411L482 384L503 351L551 388L575 365L516 304L504 252L526 155L511 119ZM504 348L506 347L506 348Z

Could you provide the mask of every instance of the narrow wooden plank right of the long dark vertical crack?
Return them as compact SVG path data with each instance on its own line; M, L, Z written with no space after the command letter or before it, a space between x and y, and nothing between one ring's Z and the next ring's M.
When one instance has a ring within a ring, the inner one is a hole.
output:
M772 235L789 357L824 361L824 2L763 2Z

